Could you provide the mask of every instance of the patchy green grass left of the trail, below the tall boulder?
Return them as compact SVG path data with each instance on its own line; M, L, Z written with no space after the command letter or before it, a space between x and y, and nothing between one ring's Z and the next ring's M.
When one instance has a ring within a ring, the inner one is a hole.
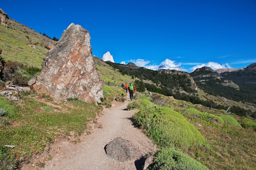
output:
M8 108L7 116L0 119L0 148L4 145L16 146L2 149L0 158L9 155L16 158L16 161L13 160L16 163L20 158L28 161L31 155L42 153L59 136L66 135L74 143L79 142L82 132L90 132L89 121L96 120L101 110L100 106L82 101L56 104L48 98L23 96L22 99L22 102L9 102L0 97L1 107ZM9 114L13 116L9 118ZM0 167L6 163L7 160L1 159Z

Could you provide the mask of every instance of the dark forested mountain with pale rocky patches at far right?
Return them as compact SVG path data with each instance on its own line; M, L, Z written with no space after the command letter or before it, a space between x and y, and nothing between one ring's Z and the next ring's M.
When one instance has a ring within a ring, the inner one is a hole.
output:
M190 75L197 86L209 94L256 104L256 63L246 68L217 71L202 67Z

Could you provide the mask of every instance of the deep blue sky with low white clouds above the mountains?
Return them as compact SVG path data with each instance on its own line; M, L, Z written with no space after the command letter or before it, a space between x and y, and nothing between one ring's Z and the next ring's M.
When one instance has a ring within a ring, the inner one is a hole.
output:
M4 0L10 18L61 38L87 29L92 55L156 69L243 68L256 62L256 0Z

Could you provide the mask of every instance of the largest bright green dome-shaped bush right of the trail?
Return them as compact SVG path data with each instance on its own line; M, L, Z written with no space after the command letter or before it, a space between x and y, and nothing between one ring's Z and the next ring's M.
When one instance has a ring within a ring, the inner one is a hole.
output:
M200 132L180 113L166 107L141 110L133 115L135 124L160 147L189 148L206 142Z

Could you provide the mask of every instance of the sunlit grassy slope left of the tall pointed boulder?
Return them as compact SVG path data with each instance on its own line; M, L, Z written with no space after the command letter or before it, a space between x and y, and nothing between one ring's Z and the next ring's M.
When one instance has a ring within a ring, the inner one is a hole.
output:
M40 68L48 51L45 46L49 43L56 42L14 20L9 19L7 28L0 24L1 56L5 61Z

